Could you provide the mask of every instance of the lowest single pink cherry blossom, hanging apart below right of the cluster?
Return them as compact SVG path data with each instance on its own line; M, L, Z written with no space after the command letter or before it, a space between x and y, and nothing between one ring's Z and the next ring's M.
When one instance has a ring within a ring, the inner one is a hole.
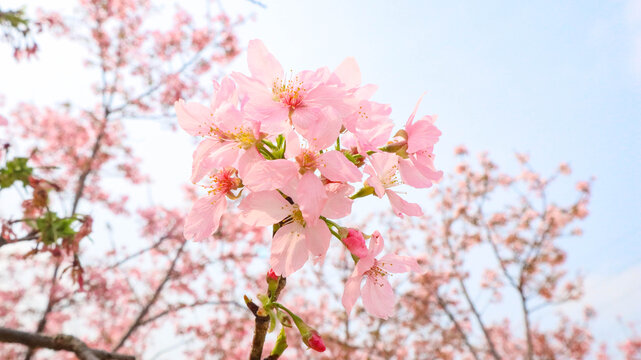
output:
M392 273L421 271L416 259L411 257L387 254L376 259L382 250L383 238L376 231L370 239L367 255L360 258L354 272L345 283L342 301L348 314L351 313L356 300L362 297L363 306L368 313L387 319L394 314L396 303L396 297L387 276ZM361 288L363 279L365 279L365 285Z

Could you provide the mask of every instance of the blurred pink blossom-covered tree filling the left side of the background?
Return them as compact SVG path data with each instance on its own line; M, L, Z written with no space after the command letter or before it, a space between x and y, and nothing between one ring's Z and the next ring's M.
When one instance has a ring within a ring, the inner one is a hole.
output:
M39 17L54 19L49 23L56 26L50 31L85 47L86 66L96 76L88 89L95 94L95 102L49 107L24 103L0 117L4 144L0 255L7 260L2 262L1 289L6 328L0 338L27 345L26 350L2 346L2 357L33 358L40 347L72 351L81 358L141 353L136 346L144 342L139 330L143 325L153 328L149 324L181 309L216 303L214 296L204 301L204 293L193 292L184 277L198 277L212 261L196 256L199 252L185 243L182 212L163 207L132 209L127 193L107 188L104 179L117 177L130 186L148 181L127 144L123 121L173 116L174 101L198 96L201 77L216 76L219 66L238 54L234 28L242 20L219 13L197 25L180 7L168 12L148 1L88 0L79 5L73 15L42 13ZM173 24L158 28L157 19L162 16L173 17ZM13 189L22 199L12 206ZM83 240L92 231L89 214L98 207L112 216L138 214L145 224L140 238L149 239L149 246L136 250L123 239L98 259L83 255L90 246ZM248 240L252 229L233 234ZM142 270L151 264L154 271ZM135 277L140 281L130 287ZM125 310L117 306L122 303L135 306ZM86 306L81 310L76 304ZM77 318L83 311L100 311L104 317ZM121 316L125 313L129 314ZM70 321L76 325L69 325ZM83 334L83 341L41 335L68 331L70 326L73 333ZM95 332L85 336L78 328ZM93 345L103 350L88 350Z

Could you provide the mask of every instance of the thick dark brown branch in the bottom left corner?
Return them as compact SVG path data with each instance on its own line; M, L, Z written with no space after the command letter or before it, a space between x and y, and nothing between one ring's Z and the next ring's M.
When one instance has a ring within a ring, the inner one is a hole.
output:
M80 360L135 360L131 355L110 353L104 350L92 349L80 339L59 334L56 336L45 336L19 330L0 327L0 341L5 343L22 344L30 349L46 348L51 350L64 350L76 354Z

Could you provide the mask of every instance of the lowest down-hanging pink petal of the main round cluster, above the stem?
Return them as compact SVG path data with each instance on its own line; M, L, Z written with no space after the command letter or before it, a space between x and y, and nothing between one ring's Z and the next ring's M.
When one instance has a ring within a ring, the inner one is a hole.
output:
M307 262L309 250L303 232L304 228L293 222L274 234L269 264L276 274L288 277Z

